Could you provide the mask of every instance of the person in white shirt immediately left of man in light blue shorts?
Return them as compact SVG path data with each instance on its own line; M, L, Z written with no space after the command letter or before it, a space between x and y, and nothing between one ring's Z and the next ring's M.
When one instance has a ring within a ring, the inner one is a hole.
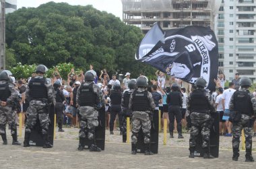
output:
M216 97L215 107L217 112L220 114L220 135L223 135L223 133L226 132L226 125L225 120L222 120L224 110L222 106L222 94L223 94L223 88L218 88L218 96Z

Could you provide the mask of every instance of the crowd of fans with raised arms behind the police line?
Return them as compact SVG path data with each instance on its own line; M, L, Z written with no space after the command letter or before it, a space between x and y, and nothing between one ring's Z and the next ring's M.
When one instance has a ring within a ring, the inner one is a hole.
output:
M111 99L110 99L110 93L111 88L115 83L118 83L121 86L121 92L128 89L128 83L131 80L131 73L127 72L124 75L124 78L121 76L117 76L116 74L113 74L110 78L108 75L108 72L106 69L103 69L100 71L100 75L97 76L96 72L93 69L93 66L90 65L90 70L94 76L95 81L94 83L97 83L102 92L104 93L105 100L106 100L106 128L109 128L110 123L110 108L111 108ZM22 112L23 119L25 119L25 112L28 109L28 102L25 98L25 92L26 92L26 85L28 84L28 81L32 77L34 77L36 74L32 73L31 77L28 79L18 79L15 81L15 78L13 77L13 81L15 84L15 88L20 93L20 105L21 110L18 110L18 112ZM144 75L144 73L140 73L140 75ZM133 75L133 77L137 77L139 75ZM62 86L60 90L63 92L65 96L65 101L63 104L65 105L65 108L63 110L63 116L64 118L64 125L70 126L70 127L78 127L79 119L77 118L77 107L76 107L76 94L77 89L81 85L81 83L84 82L84 71L80 71L79 74L75 73L74 69L71 69L71 71L67 75L67 80L64 80L64 77L61 77L58 69L55 69L52 76L52 83L55 81L60 81ZM227 137L232 136L232 123L228 121L228 113L229 108L228 104L230 102L230 98L234 91L238 90L239 88L239 74L236 73L234 79L232 82L229 83L228 87L224 86L226 79L224 76L224 73L219 72L218 73L218 79L215 80L216 82L216 91L211 91L212 94L212 102L214 102L216 107L216 112L220 114L220 135L224 135ZM186 119L185 119L185 113L187 109L187 97L191 90L193 90L193 86L191 86L189 83L186 83L184 81L181 81L181 79L176 79L174 77L166 77L166 75L160 71L156 71L156 78L150 79L151 85L148 88L148 91L152 92L152 96L154 98L155 104L156 104L156 110L160 110L161 112L161 128L163 128L163 121L164 119L167 119L168 125L171 121L174 121L174 131L177 131L177 117L170 116L170 110L168 109L168 94L171 92L170 86L172 86L172 83L179 84L180 91L182 94L182 105L181 105L181 123L183 126L183 129L186 129ZM253 92L254 96L256 96L256 90ZM118 112L118 114L121 112ZM114 129L117 129L117 121L119 120L120 116L116 116L115 122L114 122ZM119 123L121 123L119 121ZM24 126L24 121L21 124ZM120 125L120 124L119 124ZM256 124L254 125L255 129L255 135L256 135Z

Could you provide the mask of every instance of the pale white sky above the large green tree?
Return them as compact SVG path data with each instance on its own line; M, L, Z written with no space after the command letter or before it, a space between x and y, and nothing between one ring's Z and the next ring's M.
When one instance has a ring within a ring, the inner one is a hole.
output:
M43 3L54 1L56 3L69 3L70 5L93 5L100 11L113 13L122 20L123 6L121 0L17 0L18 8L21 7L38 7Z

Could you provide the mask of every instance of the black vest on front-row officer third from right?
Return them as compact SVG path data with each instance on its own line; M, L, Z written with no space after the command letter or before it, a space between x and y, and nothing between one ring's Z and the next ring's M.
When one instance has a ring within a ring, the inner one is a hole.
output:
M150 100L148 100L148 92L133 92L133 111L150 110Z

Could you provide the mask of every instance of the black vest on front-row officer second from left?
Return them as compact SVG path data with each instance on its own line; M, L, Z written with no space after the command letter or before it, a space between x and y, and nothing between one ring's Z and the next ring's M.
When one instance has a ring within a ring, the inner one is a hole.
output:
M46 79L44 78L32 78L30 79L30 96L34 99L48 98L47 88L45 86Z

